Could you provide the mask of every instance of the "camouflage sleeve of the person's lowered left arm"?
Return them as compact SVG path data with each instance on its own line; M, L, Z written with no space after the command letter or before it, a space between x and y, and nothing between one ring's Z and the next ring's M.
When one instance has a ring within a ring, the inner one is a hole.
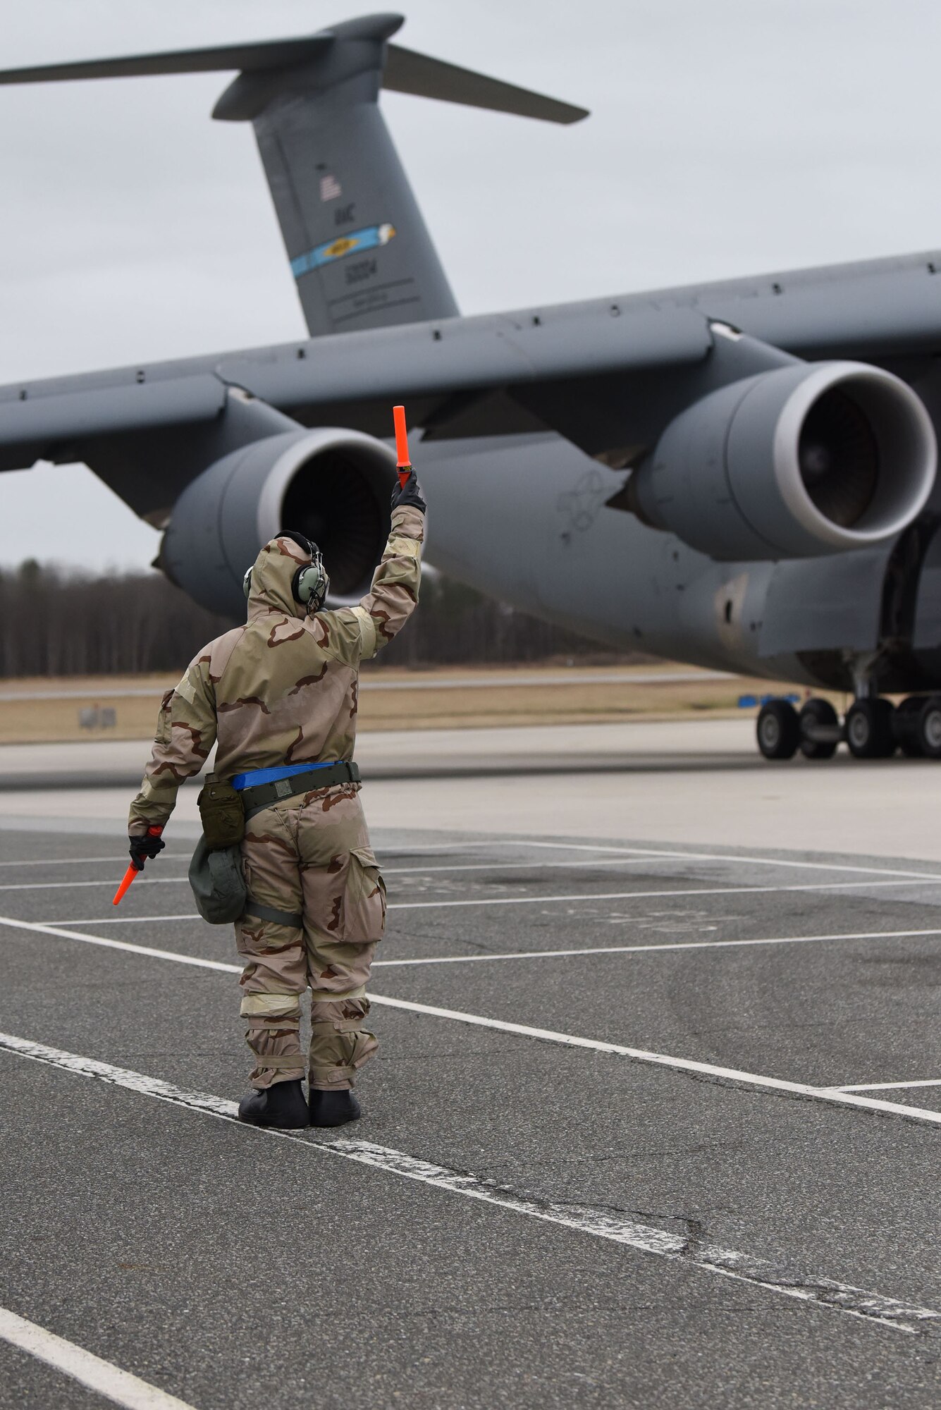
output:
M131 838L166 823L176 805L177 788L200 771L214 743L216 691L210 677L210 647L206 647L190 663L176 689L168 691L161 702L151 761L131 804Z

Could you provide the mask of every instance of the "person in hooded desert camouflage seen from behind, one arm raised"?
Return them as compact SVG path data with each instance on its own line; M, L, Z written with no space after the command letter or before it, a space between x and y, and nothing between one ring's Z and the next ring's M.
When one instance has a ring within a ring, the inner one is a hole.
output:
M265 544L251 584L247 574L245 626L210 642L163 697L154 753L131 804L135 864L162 849L148 828L166 823L179 785L200 771L213 743L220 778L352 760L359 663L392 640L418 601L424 508L413 471L404 489L396 486L386 550L355 608L306 612L294 588L299 572L320 563L318 550L289 532ZM248 818L241 852L252 901L293 924L247 912L235 925L245 960L241 1012L255 1058L254 1091L239 1117L261 1125L341 1125L359 1115L351 1089L378 1048L363 1026L365 993L386 919L359 784L314 788L263 808ZM300 1001L307 988L304 1101Z

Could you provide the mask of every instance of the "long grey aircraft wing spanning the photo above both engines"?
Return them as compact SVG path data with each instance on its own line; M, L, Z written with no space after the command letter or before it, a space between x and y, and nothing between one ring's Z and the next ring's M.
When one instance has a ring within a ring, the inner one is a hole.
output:
M731 355L724 340L717 352L717 326L748 334L751 360L740 375L792 357L916 358L918 365L933 358L941 352L937 258L441 319L14 384L0 388L0 470L86 460L148 513L165 506L168 494L135 481L141 447L166 441L179 492L189 478L183 450L200 426L223 417L230 388L301 426L385 437L392 403L404 400L410 423L428 437L556 430L606 457L637 443L638 422L649 423L651 434L662 429L676 409L666 395L671 384L680 379L683 396L702 395L702 378L690 381L694 369ZM125 465L120 475L116 457Z

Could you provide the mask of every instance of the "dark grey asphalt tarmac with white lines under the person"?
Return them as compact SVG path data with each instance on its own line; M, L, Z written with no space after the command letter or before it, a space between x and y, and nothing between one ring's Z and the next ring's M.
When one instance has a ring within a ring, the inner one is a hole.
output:
M282 1136L186 825L116 912L6 819L0 1406L938 1403L941 864L499 823L373 829L363 1118Z

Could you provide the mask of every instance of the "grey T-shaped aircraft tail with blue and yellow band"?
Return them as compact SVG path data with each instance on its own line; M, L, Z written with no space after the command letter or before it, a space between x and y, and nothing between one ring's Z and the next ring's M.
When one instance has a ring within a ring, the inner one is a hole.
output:
M375 14L297 39L0 72L3 83L238 69L213 117L251 121L311 336L458 313L379 89L575 123L586 110L389 44Z

